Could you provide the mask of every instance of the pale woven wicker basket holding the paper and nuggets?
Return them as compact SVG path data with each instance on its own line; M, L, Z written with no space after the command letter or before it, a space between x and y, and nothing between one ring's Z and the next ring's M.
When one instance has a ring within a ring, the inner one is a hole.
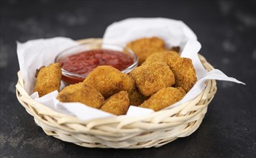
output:
M86 39L91 42L101 39ZM206 70L214 68L199 55ZM24 80L18 72L17 98L27 112L49 136L82 147L138 149L161 147L179 137L189 136L198 129L216 93L216 81L206 81L206 88L193 101L147 116L116 116L111 119L80 119L58 113L29 97Z

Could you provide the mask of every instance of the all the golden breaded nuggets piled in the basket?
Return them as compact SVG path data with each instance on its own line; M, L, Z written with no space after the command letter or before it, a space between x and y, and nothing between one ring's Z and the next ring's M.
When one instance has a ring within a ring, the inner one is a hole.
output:
M83 82L60 91L60 64L40 68L35 91L44 96L58 90L61 102L80 102L114 115L125 115L130 105L160 111L180 101L196 83L192 60L180 57L177 47L166 50L157 37L130 42L139 65L129 74L111 66L98 66Z

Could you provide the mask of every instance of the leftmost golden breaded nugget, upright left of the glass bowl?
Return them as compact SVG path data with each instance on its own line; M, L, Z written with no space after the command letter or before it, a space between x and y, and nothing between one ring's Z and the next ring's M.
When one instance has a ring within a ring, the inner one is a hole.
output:
M45 96L54 90L60 90L61 67L59 63L50 64L40 68L36 74L35 92L39 96Z

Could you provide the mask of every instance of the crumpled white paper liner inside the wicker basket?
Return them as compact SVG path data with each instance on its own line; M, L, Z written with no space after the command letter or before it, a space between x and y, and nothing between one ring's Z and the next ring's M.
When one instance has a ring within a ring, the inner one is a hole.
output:
M178 103L169 106L173 108L191 101L196 98L199 93L205 88L204 82L209 79L227 80L234 83L242 83L235 78L229 78L220 70L212 70L207 72L198 58L198 51L201 49L201 44L197 41L196 34L181 21L165 18L133 18L125 19L121 22L114 22L107 27L104 34L104 42L126 45L132 40L137 40L142 37L160 37L165 40L168 48L173 46L181 47L181 57L189 57L193 61L196 69L198 81L186 96ZM17 42L17 54L19 60L19 68L24 80L24 88L30 97L35 99L45 106L48 106L55 111L65 113L72 116L77 116L79 119L88 121L90 119L100 119L106 117L115 117L111 113L106 113L96 108L85 106L82 103L61 103L56 98L58 91L55 90L45 96L39 98L38 93L33 93L35 86L35 72L42 65L49 65L54 62L55 57L61 51L68 47L78 45L77 42L65 37L55 37L51 39L30 40L25 43ZM244 84L244 83L242 83ZM127 116L142 116L154 111L147 108L130 106L127 111Z

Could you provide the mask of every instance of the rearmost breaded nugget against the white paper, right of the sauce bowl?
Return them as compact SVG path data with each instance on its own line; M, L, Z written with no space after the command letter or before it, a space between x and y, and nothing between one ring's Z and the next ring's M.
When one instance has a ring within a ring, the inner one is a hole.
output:
M154 52L164 52L165 42L158 37L141 38L139 40L129 42L127 47L137 54L140 65Z

